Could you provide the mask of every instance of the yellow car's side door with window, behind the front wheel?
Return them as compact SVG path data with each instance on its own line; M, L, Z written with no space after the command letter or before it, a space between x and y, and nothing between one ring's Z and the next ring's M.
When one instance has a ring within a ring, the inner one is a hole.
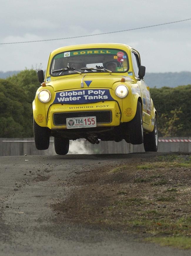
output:
M141 65L140 55L137 51L132 50L131 58L132 58L134 75L137 79L137 84L139 85L140 91L141 91L141 98L142 98L142 102L143 102L143 122L150 125L150 122L151 122L151 98L150 98L149 87L145 84L143 79L139 78L139 75L138 75L139 66Z

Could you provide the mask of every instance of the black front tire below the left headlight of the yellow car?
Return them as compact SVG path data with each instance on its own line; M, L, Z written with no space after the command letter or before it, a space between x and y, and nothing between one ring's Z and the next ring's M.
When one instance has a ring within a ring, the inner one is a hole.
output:
M33 119L34 141L38 150L48 149L50 144L50 129L39 126Z

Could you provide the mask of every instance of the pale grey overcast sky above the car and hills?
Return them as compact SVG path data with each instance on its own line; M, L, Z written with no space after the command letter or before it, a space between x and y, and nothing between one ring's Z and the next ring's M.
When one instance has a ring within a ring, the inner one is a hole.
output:
M112 32L191 18L190 0L6 0L0 43ZM48 42L0 45L0 71L46 69L56 48L124 43L139 51L146 72L191 71L191 20L141 30Z

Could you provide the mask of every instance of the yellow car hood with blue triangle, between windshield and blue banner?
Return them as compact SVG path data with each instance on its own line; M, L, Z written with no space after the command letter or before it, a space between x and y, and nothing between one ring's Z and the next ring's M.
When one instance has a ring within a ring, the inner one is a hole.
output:
M82 74L76 76L66 76L53 81L46 82L47 85L52 86L54 91L63 91L71 89L80 89L82 78L83 88L112 88L115 82L120 82L122 77L126 77L127 81L130 81L129 76L119 76L113 74ZM131 79L133 82L133 79Z

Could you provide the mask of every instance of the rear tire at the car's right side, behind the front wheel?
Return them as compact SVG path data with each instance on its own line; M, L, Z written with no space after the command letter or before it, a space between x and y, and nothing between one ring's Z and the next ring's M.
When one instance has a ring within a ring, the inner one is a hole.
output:
M155 114L155 126L154 130L151 133L144 134L144 149L146 152L153 151L157 152L158 150L158 124L157 124L157 115Z

